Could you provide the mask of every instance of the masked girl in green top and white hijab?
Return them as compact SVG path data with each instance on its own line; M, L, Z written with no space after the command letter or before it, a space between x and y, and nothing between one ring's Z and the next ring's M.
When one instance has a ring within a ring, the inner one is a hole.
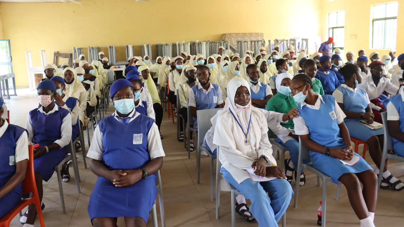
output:
M281 73L276 77L276 90L278 90L278 93L276 93L273 98L269 99L267 103L267 111L275 111L278 113L287 114L289 110L297 107L297 103L295 102L295 100L289 96L289 84L292 79L293 76L288 73ZM295 128L295 124L293 124L292 119L288 120L288 122L286 123L280 122L280 126L285 128L286 130L292 130ZM276 135L275 130L272 131L275 134L274 137L276 137L276 142L284 145L286 148L289 149L290 159L282 160L285 162L286 177L288 178L289 183L292 182L293 172L295 172L295 179L297 181L296 177L297 164L299 161L299 137L292 132L288 132L286 133L286 135L284 135L284 130L280 130L280 133L282 133L282 135ZM300 185L304 185L306 183L306 178L303 170L300 173L299 179Z

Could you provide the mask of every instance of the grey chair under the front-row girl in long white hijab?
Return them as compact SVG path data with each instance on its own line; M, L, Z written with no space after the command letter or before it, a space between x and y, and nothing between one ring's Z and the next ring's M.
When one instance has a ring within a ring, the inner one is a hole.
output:
M217 157L219 157L220 146L217 146ZM227 185L230 189L231 196L231 227L236 227L236 196L242 195L237 191L235 187L231 184L227 183L225 178L223 177L222 172L220 171L222 164L219 158L216 160L216 219L219 219L219 206L220 206L220 191L221 191L221 182L224 185ZM224 191L224 190L223 190ZM286 226L286 212L282 215L282 227Z

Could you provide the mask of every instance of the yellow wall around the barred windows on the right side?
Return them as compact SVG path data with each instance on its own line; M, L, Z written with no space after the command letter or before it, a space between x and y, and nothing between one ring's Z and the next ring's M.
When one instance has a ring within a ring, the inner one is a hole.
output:
M327 13L336 11L345 11L345 43L344 50L353 51L355 57L358 57L358 50L364 49L366 56L369 56L373 51L377 51L380 58L383 55L388 55L389 50L371 49L370 48L370 31L371 31L371 15L370 8L373 5L397 2L389 0L335 0L321 1L321 36L322 41L328 39L328 22ZM400 42L404 37L404 0L398 0L398 16L397 16L397 46L396 55L404 53L404 43ZM349 36L356 36L356 40L349 40ZM345 57L346 59L346 57Z

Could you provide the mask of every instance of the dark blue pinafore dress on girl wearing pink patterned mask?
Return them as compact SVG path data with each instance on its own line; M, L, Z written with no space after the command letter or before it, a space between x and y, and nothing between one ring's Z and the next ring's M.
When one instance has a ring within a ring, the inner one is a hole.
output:
M34 141L39 143L40 147L49 146L58 139L62 138L60 132L63 118L70 112L67 109L59 108L50 115L41 113L38 109L33 109L29 112L31 116L32 126L34 127ZM55 166L65 158L65 148L51 150L44 153L39 158L34 159L34 171L44 177L44 181L49 181L55 171Z

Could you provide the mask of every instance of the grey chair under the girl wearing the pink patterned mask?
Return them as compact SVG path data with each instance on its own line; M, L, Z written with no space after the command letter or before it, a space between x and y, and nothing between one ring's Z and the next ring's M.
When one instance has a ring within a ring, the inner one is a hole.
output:
M62 176L60 175L60 170L62 169L62 166L65 162L72 160L73 164L73 170L74 170L74 178L76 179L76 186L77 186L77 192L80 194L80 174L78 172L78 166L77 166L77 160L76 160L76 151L73 147L73 142L70 140L70 143L65 146L65 151L66 153L70 153L69 156L66 156L59 164L55 166L55 172L57 175L57 182L59 183L59 194L60 194L60 202L62 204L62 214L66 213L66 208L65 208L65 197L63 196L63 185L62 185Z

